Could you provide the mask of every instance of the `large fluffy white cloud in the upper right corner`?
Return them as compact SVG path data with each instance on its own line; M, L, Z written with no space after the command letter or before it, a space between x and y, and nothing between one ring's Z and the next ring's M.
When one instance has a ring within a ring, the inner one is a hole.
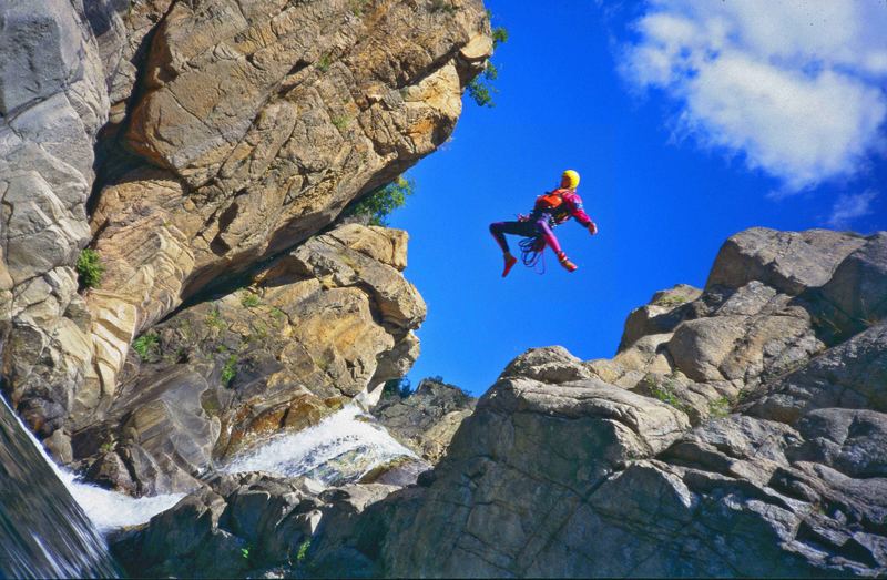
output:
M884 0L652 0L623 75L679 104L677 131L796 192L853 175L883 143Z

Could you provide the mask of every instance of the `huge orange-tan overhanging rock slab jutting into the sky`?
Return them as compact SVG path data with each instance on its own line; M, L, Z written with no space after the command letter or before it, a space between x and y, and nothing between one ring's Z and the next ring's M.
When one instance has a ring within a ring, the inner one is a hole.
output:
M486 27L475 2L172 4L120 134L144 163L92 220L108 267L88 297L103 388L130 339L182 299L304 241L442 143L489 55Z

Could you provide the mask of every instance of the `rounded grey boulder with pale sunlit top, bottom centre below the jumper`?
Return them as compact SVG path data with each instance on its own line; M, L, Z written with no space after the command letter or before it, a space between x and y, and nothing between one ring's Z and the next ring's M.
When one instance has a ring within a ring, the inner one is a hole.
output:
M547 556L582 532L573 515L587 498L687 427L675 408L600 380L502 379L462 424L410 525L389 538L386 572L558 576Z

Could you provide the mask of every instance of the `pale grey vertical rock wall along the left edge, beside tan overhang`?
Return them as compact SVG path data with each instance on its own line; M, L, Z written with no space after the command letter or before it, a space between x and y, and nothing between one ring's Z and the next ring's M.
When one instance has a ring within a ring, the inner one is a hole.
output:
M0 335L9 395L50 436L91 380L89 316L72 269L108 93L95 40L63 0L0 7Z

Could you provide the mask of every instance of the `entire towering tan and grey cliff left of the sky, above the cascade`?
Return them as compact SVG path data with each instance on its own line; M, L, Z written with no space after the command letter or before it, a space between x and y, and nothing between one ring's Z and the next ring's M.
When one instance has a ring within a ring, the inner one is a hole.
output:
M0 385L57 459L193 489L411 365L406 234L330 227L451 133L479 0L13 0L0 28Z

